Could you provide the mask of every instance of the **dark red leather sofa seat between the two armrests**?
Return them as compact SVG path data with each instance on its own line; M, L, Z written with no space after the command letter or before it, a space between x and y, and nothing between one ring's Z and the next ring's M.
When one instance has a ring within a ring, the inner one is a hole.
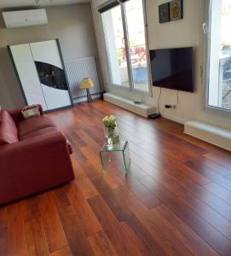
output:
M38 131L43 128L56 127L55 123L43 114L30 119L23 119L17 124L17 126L19 137L23 137L28 133Z

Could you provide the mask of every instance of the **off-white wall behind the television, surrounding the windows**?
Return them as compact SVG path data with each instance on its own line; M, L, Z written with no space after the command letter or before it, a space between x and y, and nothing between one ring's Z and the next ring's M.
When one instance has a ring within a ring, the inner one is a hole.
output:
M109 84L108 71L105 55L105 45L103 43L103 33L101 29L100 14L97 12L98 4L105 3L103 0L92 0L92 11L95 24L98 49L101 55L101 72L103 74L104 84L107 90L120 96L126 96L130 99L141 99L151 105L157 105L159 88L153 87L153 97L144 94L130 92L130 90L115 88ZM221 111L205 110L205 83L200 78L200 65L205 61L204 43L201 24L204 15L205 0L184 0L184 18L165 24L159 24L159 9L161 3L167 3L168 0L146 0L147 3L147 33L149 49L175 48L193 46L193 83L195 92L179 92L179 104L176 109L165 109L165 104L176 103L176 90L162 90L160 101L161 112L169 119L185 123L191 119L207 119L209 121L231 125L230 115Z

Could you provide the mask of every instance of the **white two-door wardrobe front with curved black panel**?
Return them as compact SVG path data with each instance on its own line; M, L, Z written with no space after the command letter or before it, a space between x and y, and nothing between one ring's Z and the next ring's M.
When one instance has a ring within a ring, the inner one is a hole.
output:
M58 40L9 46L15 73L27 105L43 110L72 106Z

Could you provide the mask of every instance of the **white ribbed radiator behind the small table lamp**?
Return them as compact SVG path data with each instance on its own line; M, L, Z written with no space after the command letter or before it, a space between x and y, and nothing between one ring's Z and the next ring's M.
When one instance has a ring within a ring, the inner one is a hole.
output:
M91 93L94 94L101 91L94 56L66 61L65 67L73 99L86 96L86 90L79 89L81 81L84 78L90 78L95 83L95 87L90 90Z

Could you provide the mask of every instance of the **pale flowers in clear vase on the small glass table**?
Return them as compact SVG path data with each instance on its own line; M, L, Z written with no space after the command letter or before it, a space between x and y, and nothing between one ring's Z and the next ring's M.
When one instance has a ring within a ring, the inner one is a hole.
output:
M114 115L106 116L102 119L105 128L105 137L108 145L119 143L118 127Z

